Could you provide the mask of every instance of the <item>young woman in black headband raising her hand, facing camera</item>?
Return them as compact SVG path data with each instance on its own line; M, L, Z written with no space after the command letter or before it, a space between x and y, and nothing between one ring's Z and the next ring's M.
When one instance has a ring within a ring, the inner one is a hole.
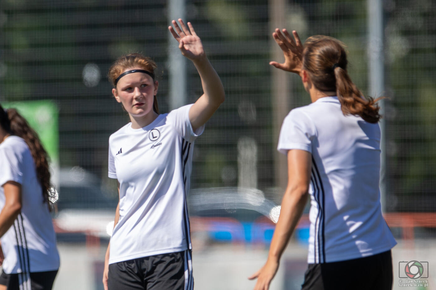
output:
M191 105L160 114L156 64L141 54L109 69L112 94L130 122L109 138L109 177L119 204L103 274L105 289L193 289L186 197L194 140L224 101L224 88L191 23L168 27L194 63L204 94Z

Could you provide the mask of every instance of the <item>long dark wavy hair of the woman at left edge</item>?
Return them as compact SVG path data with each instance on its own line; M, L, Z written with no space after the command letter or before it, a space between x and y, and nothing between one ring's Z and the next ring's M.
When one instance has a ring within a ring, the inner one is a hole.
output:
M10 135L21 137L30 149L36 167L36 175L42 188L43 202L47 202L51 211L53 207L51 197L53 185L50 182L51 174L49 170L49 156L45 151L38 134L27 123L16 109L10 108L3 110L0 105L0 125Z

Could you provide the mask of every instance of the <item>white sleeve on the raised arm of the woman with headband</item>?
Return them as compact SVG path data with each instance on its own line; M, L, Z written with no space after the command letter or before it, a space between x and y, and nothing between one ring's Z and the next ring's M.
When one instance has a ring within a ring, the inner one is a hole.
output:
M185 105L170 111L167 116L167 120L176 128L179 134L189 142L194 142L204 131L204 125L195 132L192 129L191 121L189 121L189 109L192 105L193 104Z

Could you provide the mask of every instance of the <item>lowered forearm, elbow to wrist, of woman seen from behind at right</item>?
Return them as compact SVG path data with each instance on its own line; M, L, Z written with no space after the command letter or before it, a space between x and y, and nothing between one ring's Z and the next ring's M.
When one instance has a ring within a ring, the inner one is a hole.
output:
M289 242L290 236L294 232L303 214L307 197L307 192L301 192L297 189L292 192L286 192L285 196L283 196L279 221L276 224L276 229L272 236L268 259L274 259L277 262L280 260Z

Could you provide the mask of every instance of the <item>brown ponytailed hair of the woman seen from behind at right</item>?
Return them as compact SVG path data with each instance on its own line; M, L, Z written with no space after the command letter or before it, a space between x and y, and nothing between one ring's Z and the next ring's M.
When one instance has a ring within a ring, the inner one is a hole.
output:
M365 98L347 73L347 54L340 40L324 35L309 37L304 43L303 69L320 91L335 91L344 115L360 116L369 123L377 123L381 115L377 101L384 98Z

